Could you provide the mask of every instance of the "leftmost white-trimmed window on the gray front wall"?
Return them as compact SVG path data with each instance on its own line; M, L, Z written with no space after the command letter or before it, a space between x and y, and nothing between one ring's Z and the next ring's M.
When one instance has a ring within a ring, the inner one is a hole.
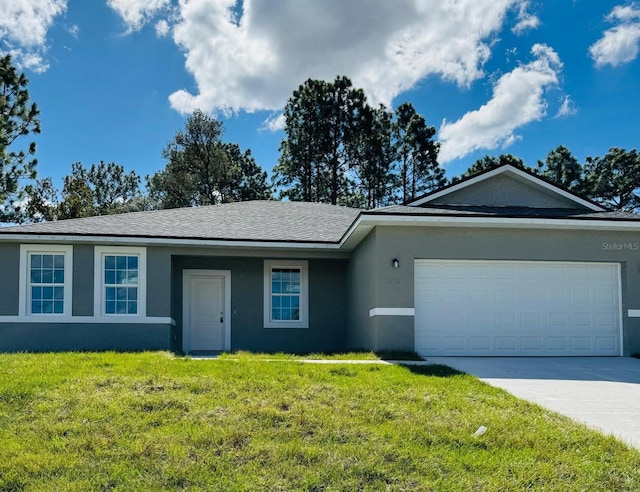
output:
M20 245L20 315L71 316L73 247Z

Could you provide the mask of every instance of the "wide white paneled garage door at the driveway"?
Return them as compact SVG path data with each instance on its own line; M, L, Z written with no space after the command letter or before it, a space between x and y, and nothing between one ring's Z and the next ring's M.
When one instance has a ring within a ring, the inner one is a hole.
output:
M420 355L622 355L612 263L415 262Z

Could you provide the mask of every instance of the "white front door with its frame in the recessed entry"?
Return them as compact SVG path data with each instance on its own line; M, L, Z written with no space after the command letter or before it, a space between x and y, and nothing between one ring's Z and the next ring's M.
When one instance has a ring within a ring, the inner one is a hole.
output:
M183 350L230 350L227 319L230 273L185 270L183 278Z

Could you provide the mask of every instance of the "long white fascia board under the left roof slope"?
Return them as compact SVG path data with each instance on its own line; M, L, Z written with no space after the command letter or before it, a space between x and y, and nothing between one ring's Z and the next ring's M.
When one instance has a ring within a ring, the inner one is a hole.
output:
M301 243L272 241L221 241L215 239L180 239L162 237L112 237L112 236L76 236L73 234L1 234L1 240L29 241L31 243L90 243L127 246L205 246L220 248L247 249L296 249L296 250L339 250L338 243Z

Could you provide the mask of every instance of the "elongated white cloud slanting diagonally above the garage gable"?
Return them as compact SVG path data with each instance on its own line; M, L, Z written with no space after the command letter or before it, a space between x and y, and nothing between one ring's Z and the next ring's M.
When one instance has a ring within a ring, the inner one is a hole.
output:
M442 123L440 162L479 149L506 147L519 138L518 128L546 115L545 90L558 84L562 62L543 44L534 45L531 53L535 60L500 77L489 102L454 123Z

